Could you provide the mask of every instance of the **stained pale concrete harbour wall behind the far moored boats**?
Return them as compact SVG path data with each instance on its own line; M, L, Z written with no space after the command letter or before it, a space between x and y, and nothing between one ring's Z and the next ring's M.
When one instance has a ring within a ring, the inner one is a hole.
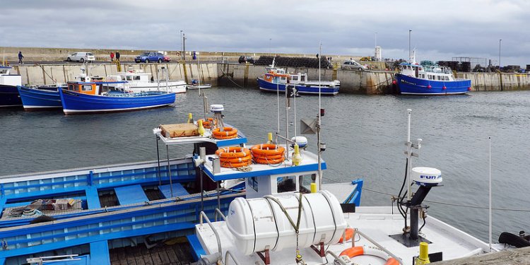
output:
M66 83L81 72L83 64L21 64L13 66L13 73L22 76L23 84L41 85ZM257 78L265 73L266 66L252 64L222 63L167 63L167 64L122 64L122 69L141 69L146 73L157 75L157 69L169 69L172 80L184 80L201 77L201 83L213 86L241 86L256 88ZM115 64L86 64L88 73L93 76L108 76L117 73ZM319 70L308 68L286 67L288 72L307 73L311 80L318 80ZM394 71L350 71L341 69L322 69L322 80L341 81L340 93L361 95L384 95L396 93L392 85ZM473 91L530 90L528 73L457 73L457 78L471 79Z

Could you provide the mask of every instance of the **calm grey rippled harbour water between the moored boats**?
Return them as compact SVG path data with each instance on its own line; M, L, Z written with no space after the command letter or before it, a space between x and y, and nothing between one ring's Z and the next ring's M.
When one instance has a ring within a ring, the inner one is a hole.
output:
M276 130L276 95L242 88L203 91L209 104L225 105L225 122L241 129L249 143L263 143L266 133ZM317 97L292 103L297 119L316 116ZM399 192L404 177L410 108L412 139L423 139L413 166L437 167L444 178L444 187L428 195L428 214L487 240L491 137L493 207L500 208L493 212L494 238L503 231L530 231L530 91L449 97L337 95L322 98L322 106L327 146L323 157L329 168L324 182L362 177L362 204L389 206L388 194ZM196 90L177 95L175 107L140 112L66 117L62 112L1 110L0 175L154 160L152 129L185 122L188 112L196 118L202 112ZM284 113L282 109L282 131ZM293 121L293 112L290 115ZM290 125L290 135L294 127ZM316 137L308 139L315 151ZM180 157L191 150L178 146L170 153Z

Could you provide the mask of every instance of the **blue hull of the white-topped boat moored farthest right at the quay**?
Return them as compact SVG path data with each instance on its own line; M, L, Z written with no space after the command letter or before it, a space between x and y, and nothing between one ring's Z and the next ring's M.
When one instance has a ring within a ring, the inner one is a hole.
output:
M469 92L471 80L434 81L396 73L396 84L402 95L461 95ZM429 87L430 86L430 87Z

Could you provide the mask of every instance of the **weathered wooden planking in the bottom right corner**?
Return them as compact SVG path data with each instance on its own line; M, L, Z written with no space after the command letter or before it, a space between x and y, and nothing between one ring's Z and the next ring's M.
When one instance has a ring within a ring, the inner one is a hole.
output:
M530 247L502 252L483 254L480 256L453 259L450 261L433 262L435 265L522 265L530 264Z

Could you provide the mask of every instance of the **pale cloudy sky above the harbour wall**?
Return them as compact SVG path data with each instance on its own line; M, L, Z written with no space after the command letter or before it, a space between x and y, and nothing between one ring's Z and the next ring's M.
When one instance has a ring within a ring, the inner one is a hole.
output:
M530 64L528 0L0 0L0 47L271 52ZM8 23L6 23L8 21ZM502 40L502 41L500 41ZM499 54L500 48L500 54ZM483 63L485 64L485 63Z

